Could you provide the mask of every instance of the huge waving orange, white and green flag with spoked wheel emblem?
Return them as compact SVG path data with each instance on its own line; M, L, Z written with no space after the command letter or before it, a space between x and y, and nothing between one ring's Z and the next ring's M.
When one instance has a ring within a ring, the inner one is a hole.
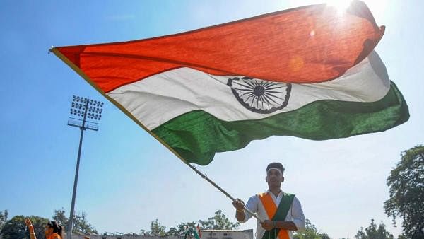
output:
M52 52L179 158L289 135L382 132L408 106L373 51L367 6L293 8L187 33Z

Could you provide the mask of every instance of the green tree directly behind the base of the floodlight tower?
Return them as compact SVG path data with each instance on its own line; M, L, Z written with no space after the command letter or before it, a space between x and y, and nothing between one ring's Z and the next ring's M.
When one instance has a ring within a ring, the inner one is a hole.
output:
M65 215L64 209L54 210L53 220L61 223L64 231L68 229L69 218ZM76 212L73 216L72 233L76 234L98 234L93 226L87 221L87 214L85 212Z

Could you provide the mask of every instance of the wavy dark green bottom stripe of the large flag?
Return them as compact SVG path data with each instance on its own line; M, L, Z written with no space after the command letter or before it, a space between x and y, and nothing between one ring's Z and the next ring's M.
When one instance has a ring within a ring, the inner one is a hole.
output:
M394 83L377 102L318 100L298 110L264 119L226 122L194 110L153 129L189 163L207 165L216 152L245 147L254 139L272 135L324 140L382 132L406 122L408 105Z

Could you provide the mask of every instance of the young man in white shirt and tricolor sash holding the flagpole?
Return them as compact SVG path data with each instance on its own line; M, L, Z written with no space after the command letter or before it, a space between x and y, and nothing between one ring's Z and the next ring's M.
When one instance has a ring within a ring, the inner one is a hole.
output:
M281 163L270 163L266 167L265 181L268 190L249 198L246 208L263 219L257 224L257 239L293 239L293 231L305 228L305 216L302 206L294 194L281 191L281 182L284 182L284 167ZM235 217L244 223L252 215L244 208L245 203L240 199L232 202L236 209Z

